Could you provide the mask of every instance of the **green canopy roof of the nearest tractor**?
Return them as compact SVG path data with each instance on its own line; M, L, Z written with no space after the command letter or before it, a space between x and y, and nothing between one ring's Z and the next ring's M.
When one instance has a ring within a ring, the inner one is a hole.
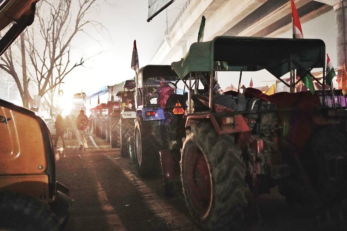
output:
M266 69L280 78L293 69L324 68L325 44L319 39L218 36L193 43L186 56L171 66L183 79L189 72L214 70L215 61L227 62L228 71Z

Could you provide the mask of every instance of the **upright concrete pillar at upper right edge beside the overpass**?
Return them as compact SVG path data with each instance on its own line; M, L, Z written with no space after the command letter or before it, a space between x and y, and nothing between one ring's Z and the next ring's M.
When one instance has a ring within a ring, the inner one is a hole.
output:
M347 65L347 0L334 5L336 18L336 46L338 69L342 69L342 64Z

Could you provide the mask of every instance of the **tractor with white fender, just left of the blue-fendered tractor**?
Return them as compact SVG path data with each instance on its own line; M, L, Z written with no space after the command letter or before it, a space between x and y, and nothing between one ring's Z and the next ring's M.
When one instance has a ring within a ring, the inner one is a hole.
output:
M116 95L122 102L122 112L119 120L120 154L122 157L129 156L130 160L134 160L134 156L131 155L131 143L133 142L132 137L136 119L134 88L135 80L126 80L123 85L124 91L120 91Z

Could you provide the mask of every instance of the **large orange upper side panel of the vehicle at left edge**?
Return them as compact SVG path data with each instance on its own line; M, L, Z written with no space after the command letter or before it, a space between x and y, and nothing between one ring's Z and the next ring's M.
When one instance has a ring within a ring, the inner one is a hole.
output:
M0 134L0 176L45 172L44 140L35 118L1 107Z

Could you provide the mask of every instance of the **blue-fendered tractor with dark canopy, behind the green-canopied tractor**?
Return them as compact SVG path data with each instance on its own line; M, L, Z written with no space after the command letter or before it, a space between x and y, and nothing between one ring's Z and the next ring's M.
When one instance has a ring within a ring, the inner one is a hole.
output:
M178 80L168 65L147 65L135 76L134 162L142 177L157 176L160 169L159 151L165 117L163 108L157 103L156 91L162 84Z

